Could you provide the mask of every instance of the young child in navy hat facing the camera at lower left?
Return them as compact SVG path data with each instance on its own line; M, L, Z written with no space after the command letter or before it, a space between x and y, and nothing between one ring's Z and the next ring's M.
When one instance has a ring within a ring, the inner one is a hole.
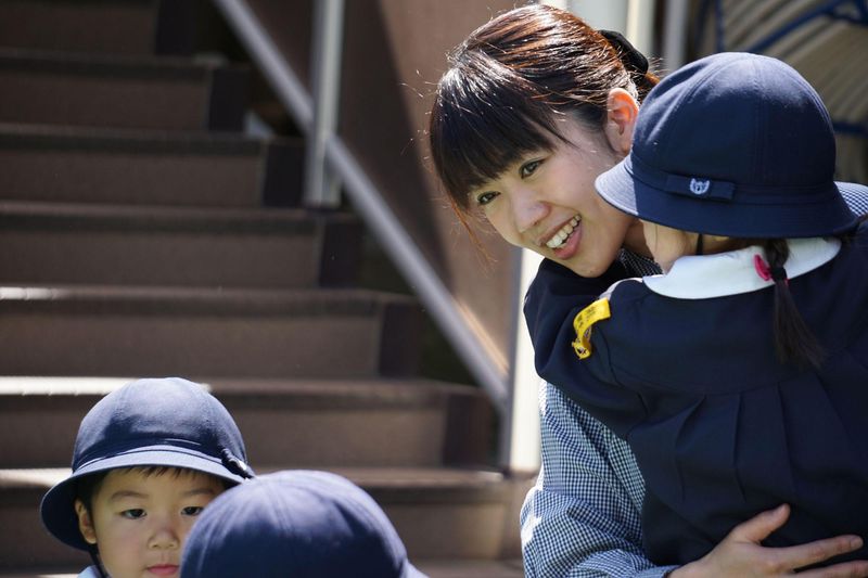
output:
M253 476L224 406L178 377L139 380L81 421L72 475L42 498L62 542L88 551L87 578L178 577L181 548L202 509Z

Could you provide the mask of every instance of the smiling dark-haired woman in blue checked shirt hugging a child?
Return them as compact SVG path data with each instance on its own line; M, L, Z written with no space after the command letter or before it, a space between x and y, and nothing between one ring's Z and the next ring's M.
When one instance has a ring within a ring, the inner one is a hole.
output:
M542 255L569 292L599 295L659 273L640 221L593 187L629 152L639 103L656 82L621 35L545 4L474 30L450 54L429 119L431 156L458 218L471 229L478 216ZM846 536L763 548L787 521L778 509L736 526L700 561L655 566L642 547L644 480L633 452L558 385L539 396L542 467L521 513L526 576L782 576L859 548ZM816 574L865 575L845 565Z

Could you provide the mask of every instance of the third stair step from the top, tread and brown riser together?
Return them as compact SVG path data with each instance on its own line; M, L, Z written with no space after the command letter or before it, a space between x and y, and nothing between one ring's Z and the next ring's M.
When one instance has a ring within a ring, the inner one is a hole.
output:
M232 133L0 124L0 197L175 206L297 205L303 142Z

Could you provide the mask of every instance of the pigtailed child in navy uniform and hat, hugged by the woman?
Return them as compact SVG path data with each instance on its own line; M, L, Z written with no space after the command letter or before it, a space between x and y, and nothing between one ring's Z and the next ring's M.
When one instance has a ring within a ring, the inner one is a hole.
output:
M764 545L868 536L868 228L844 202L868 188L835 182L834 162L828 113L793 68L691 63L649 93L630 154L596 181L643 221L665 274L586 298L544 262L528 292L537 371L636 454L658 564L699 560L781 504Z

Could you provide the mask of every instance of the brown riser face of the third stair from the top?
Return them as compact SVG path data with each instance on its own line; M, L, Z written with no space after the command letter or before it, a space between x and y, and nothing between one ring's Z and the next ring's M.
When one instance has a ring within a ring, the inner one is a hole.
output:
M292 146L283 156L301 165L301 146ZM111 143L79 150L74 143L16 147L12 142L0 149L0 172L7 200L258 207L264 197L282 197L290 200L283 204L293 204L301 170L292 164L268 167L266 158L260 152L117 151ZM270 180L280 181L279 191L271 190Z

